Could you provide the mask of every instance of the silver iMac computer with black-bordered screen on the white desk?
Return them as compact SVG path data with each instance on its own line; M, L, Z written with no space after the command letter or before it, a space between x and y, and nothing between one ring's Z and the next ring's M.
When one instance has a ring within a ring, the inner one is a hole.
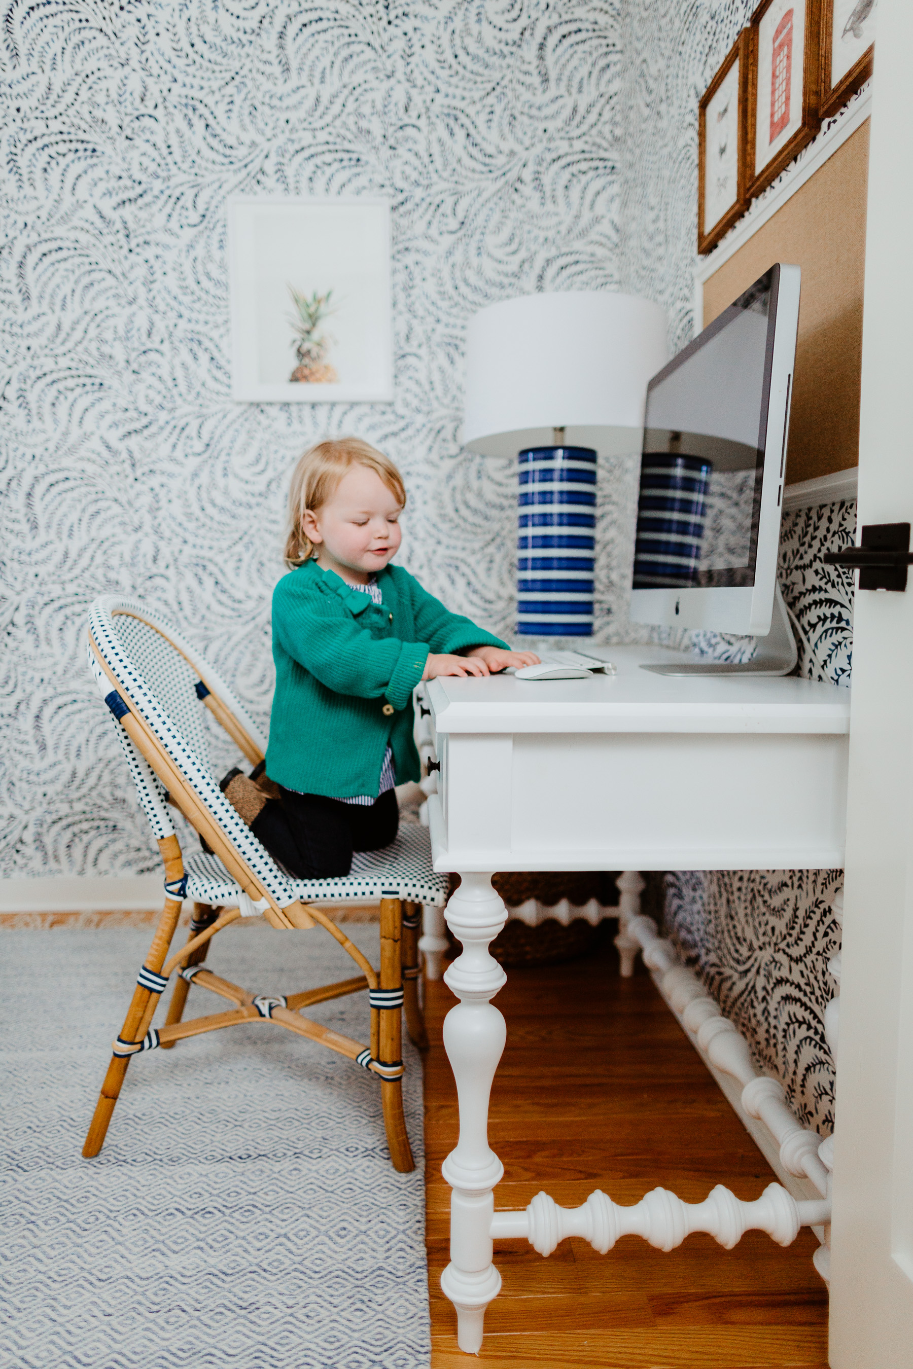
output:
M745 664L665 675L786 675L795 641L776 583L798 266L772 266L647 385L631 619L754 635Z

